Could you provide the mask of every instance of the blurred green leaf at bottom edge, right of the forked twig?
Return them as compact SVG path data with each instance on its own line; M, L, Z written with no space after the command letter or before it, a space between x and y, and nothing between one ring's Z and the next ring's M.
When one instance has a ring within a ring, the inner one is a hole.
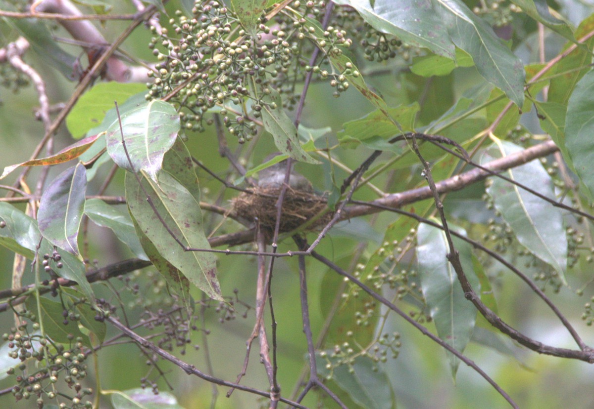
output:
M330 356L329 352L327 356ZM327 378L330 371L326 361L316 357L318 373ZM332 370L331 379L365 409L394 409L396 399L386 372L369 357L356 357L351 365L339 365Z

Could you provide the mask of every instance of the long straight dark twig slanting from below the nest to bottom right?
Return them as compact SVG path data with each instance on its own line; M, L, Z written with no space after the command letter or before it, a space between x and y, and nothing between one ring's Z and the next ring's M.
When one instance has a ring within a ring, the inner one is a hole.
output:
M513 400L511 400L511 398L505 393L505 391L503 391L503 389L501 389L500 386L497 385L497 383L495 383L495 381L493 381L493 379L491 379L489 377L489 375L487 375L481 368L479 368L479 366L476 365L476 363L473 362L473 360L467 358L466 356L464 356L463 354L461 354L460 352L458 352L456 349L454 349L453 347L451 347L449 344L445 343L445 341L441 340L441 338L439 338L439 337L435 336L434 334L430 333L427 330L427 328L423 327L421 324L419 324L418 322L416 322L414 319L410 318L409 315L406 314L406 312L402 311L396 305L394 305L393 303L391 303L390 301L388 301L386 298L384 298L383 296L381 296L378 293L376 293L374 290L372 290L371 288L369 288L368 286L366 286L364 283L360 282L354 276L352 276L351 274L347 273L345 270L341 269L336 264L332 263L330 260L328 260L323 255L320 255L320 254L316 253L315 251L313 251L311 255L316 260L318 260L321 263L325 264L326 266L330 267L330 269L336 271L336 273L340 274L340 276L346 277L351 282L355 283L356 286L358 286L359 288L361 288L362 290L364 290L372 298L374 298L378 302L383 303L383 305L387 306L392 311L396 312L396 314L400 315L400 317L404 318L409 324L413 325L413 327L415 327L417 330L421 331L421 333L423 335L426 335L427 337L431 338L432 341L434 341L435 343L439 344L444 349L448 350L448 352L451 352L452 354L454 354L458 359L460 359L462 362L464 362L467 366L470 366L470 368L474 369L487 382L489 382L489 384L491 384L491 386L493 386L493 388L495 388L495 390L497 392L499 392L499 394L501 396L503 396L505 398L505 400L508 401L512 407L517 408L517 405L514 403Z

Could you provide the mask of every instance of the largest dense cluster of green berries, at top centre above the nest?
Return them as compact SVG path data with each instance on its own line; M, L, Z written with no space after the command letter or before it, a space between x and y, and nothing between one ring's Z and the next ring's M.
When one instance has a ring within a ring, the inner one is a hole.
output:
M170 20L176 40L166 29L151 39L149 47L160 62L149 74L155 79L147 98L168 95L181 107L185 129L201 131L205 122L211 123L204 118L207 113L220 113L239 142L250 140L257 134L261 110L276 109L276 103L266 99L270 88L294 93L294 82L305 66L301 43L309 33L303 16L319 14L326 4L296 1L293 6L290 14L278 18L283 24L268 27L261 18L255 34L241 27L222 0L195 2L192 17L178 11L177 20ZM292 82L287 81L289 74ZM286 104L295 101L293 95Z

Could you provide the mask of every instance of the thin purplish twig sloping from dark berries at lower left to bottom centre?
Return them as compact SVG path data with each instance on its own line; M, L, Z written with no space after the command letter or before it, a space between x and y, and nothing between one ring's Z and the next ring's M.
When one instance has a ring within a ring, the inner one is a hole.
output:
M260 395L263 397L270 396L270 394L266 391L260 391L260 389L249 388L248 386L233 384L233 382L215 378L214 376L210 376L207 373L201 372L194 365L190 365L189 363L186 363L186 362L182 361L181 359L178 359L177 357L173 356L166 350L163 350L163 349L157 347L155 344L149 342L148 340L146 340L146 338L141 337L140 335L138 335L134 331L130 330L125 325L121 324L121 322L119 322L117 319L115 319L113 317L106 317L105 320L108 321L110 324L112 324L119 331L122 331L122 333L127 335L127 337L131 338L136 343L140 344L140 346L150 349L151 351L153 351L154 353L156 353L163 359L168 360L169 362L173 363L176 366L179 366L179 368L184 370L184 372L187 373L188 375L196 375L196 376L198 376L198 378L204 379L205 381L208 381L208 382L212 382L213 384L229 386L231 388L239 389L240 391L250 392L255 395ZM283 403L294 405L300 409L307 409L307 407L300 405L297 402L290 401L286 398L281 397L281 398L279 398L279 400Z

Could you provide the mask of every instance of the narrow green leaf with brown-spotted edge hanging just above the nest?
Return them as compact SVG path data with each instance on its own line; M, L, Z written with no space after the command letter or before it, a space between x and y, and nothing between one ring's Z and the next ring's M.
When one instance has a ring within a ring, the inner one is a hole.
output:
M270 89L270 94L262 95L262 122L264 129L270 132L274 138L274 144L283 154L290 156L296 161L318 164L317 160L305 153L299 143L297 129L283 110L283 103L280 94ZM271 104L276 104L276 108Z

